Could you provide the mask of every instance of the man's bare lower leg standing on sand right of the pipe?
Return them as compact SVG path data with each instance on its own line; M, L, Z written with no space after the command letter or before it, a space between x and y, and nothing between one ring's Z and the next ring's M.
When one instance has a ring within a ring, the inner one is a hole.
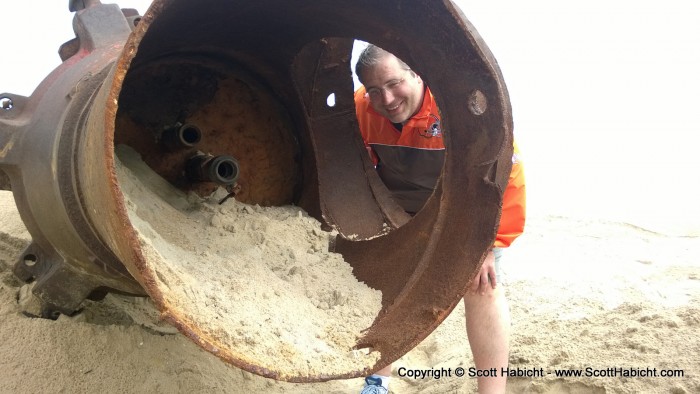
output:
M508 367L510 311L503 286L464 296L467 337L477 369L496 368L496 377L478 377L479 393L505 393Z

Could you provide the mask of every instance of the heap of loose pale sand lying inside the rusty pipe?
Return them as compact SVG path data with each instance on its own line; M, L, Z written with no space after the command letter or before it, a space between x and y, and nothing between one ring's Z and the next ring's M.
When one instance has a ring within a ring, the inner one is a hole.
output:
M127 146L117 157L129 219L168 309L282 375L376 363L378 352L353 347L379 313L381 292L328 251L335 234L298 207L186 195Z

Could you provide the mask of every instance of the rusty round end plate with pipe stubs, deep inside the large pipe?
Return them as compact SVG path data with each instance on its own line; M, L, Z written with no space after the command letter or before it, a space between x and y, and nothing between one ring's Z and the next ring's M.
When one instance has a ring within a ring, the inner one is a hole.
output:
M301 181L295 128L273 92L235 64L179 55L134 65L119 98L114 143L131 146L164 179L200 196L220 183L187 176L188 160L196 152L230 155L240 166L238 201L292 204ZM179 145L168 143L173 129L182 133Z

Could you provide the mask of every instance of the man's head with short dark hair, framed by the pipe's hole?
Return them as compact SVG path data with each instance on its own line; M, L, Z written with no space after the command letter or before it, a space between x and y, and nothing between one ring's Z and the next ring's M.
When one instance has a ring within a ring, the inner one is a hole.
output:
M423 80L393 54L370 44L360 54L355 73L375 111L393 123L405 123L423 104Z

